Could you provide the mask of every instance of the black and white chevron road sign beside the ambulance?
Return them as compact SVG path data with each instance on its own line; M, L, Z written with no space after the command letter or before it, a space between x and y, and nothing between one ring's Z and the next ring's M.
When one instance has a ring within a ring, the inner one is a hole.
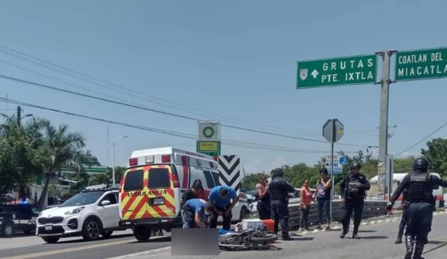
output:
M231 186L237 195L240 191L240 158L239 156L219 156L219 182L221 185Z

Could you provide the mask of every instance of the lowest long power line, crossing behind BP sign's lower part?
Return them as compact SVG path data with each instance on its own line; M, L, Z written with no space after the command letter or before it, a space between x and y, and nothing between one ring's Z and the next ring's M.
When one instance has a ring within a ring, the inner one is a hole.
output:
M6 98L0 98L1 102L5 102ZM159 128L149 128L149 127L145 127L145 126L138 126L138 125L134 125L134 124L126 124L126 123L122 123L122 122L117 122L117 121L110 121L107 119L101 119L101 118L96 118L96 117L90 117L87 115L82 115L82 114L76 114L73 112L65 112L62 110L57 110L57 109L52 109L52 108L45 108L43 106L39 106L39 105L34 105L31 103L23 103L20 101L14 101L11 99L8 99L8 102L10 103L14 103L17 105L23 105L23 106L27 106L30 108L36 108L36 109L41 109L41 110L50 110L52 112L58 112L58 113L62 113L62 114L67 114L67 115L71 115L74 117L82 117L85 119L92 119L95 121L102 121L102 122L106 122L109 124L115 124L115 125L120 125L120 126L126 126L129 128L138 128L144 131L151 131L154 133L161 133L161 134L166 134L166 135L173 135L179 138L187 138L187 139L192 139L192 140L196 140L196 135L192 135L192 134L188 134L188 133L180 133L180 132L176 132L176 131L166 131L166 130L162 130ZM263 144L258 144L258 143L252 143L252 142L242 142L242 141L237 141L237 140L221 140L223 145L229 145L229 146L233 146L233 147L245 147L245 148L251 148L251 149L265 149L265 150L270 150L270 151L288 151L288 152L297 152L297 153L327 153L328 151L321 151L321 150L312 150L312 149L293 149L293 148L289 148L289 147L281 147L281 146L273 146L273 145L263 145ZM350 151L348 153L356 153L354 151Z

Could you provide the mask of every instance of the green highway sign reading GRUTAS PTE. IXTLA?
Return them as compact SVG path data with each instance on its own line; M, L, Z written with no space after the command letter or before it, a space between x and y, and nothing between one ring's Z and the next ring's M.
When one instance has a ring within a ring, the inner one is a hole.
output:
M376 82L376 54L298 61L296 89Z

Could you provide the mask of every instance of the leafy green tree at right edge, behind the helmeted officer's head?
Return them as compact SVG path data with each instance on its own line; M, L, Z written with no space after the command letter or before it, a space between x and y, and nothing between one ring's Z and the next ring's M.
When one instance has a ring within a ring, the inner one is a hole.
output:
M447 139L434 138L427 142L427 149L420 153L430 161L430 172L447 177Z

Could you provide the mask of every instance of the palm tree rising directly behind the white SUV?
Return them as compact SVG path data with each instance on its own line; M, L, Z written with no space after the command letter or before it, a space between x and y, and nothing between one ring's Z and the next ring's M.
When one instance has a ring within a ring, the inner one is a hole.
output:
M41 197L38 200L38 207L43 208L47 198L48 185L54 172L62 166L71 166L78 172L82 171L82 165L77 161L80 149L85 147L85 138L81 133L69 132L68 125L60 125L58 128L47 123L45 125L45 147L47 150L47 174L45 174L45 184Z

